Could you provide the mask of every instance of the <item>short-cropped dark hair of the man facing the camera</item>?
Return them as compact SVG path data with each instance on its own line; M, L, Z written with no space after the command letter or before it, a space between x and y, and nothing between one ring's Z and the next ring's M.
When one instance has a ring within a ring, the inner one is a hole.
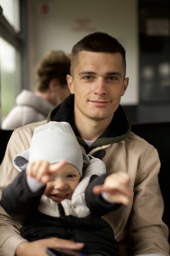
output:
M71 53L71 66L70 74L74 76L74 68L78 63L78 54L81 51L97 52L97 53L120 53L123 59L123 69L124 75L126 72L126 59L125 59L125 49L123 46L110 35L103 32L95 32L86 35L72 48Z

